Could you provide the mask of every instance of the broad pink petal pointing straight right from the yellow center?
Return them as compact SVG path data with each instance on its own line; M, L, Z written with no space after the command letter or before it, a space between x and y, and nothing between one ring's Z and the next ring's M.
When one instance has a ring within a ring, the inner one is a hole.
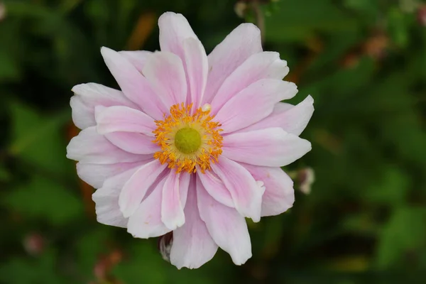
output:
M251 165L281 167L311 150L309 141L278 127L224 136L222 155Z

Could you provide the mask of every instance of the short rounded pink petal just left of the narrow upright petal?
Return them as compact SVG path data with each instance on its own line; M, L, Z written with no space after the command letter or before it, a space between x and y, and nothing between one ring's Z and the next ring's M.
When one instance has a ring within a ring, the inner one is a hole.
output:
M185 70L178 55L167 52L154 53L146 62L143 74L166 107L186 102Z

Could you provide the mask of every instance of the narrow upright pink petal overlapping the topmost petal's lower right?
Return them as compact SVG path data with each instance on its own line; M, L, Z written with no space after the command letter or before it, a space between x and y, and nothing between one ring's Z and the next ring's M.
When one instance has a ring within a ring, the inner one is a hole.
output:
M190 87L190 103L193 103L194 109L200 107L204 89L207 83L207 72L209 62L207 61L206 51L200 40L187 38L183 41L185 52L185 63L187 71L187 80ZM189 99L189 98L188 98Z

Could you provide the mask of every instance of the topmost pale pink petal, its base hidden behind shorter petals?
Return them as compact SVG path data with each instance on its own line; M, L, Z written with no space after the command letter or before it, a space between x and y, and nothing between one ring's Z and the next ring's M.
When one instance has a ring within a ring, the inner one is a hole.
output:
M183 41L186 38L198 39L187 19L180 13L166 12L158 18L158 27L161 51L174 53L185 61Z

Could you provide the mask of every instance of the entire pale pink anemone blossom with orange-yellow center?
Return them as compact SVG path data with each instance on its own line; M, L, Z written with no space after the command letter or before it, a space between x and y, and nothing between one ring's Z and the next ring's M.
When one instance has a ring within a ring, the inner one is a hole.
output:
M285 212L293 182L280 169L310 151L298 136L313 99L283 81L287 63L265 52L243 23L206 55L186 18L158 20L160 52L102 48L121 91L75 86L67 146L77 173L97 188L97 220L137 238L173 231L170 262L198 268L220 247L237 265L251 257L245 217Z

